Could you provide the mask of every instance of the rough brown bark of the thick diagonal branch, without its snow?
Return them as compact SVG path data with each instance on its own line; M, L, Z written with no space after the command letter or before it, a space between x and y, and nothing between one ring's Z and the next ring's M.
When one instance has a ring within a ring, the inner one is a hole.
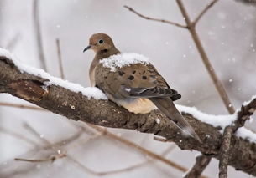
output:
M222 145L222 135L219 130L196 120L191 114L183 113L203 144L199 144L191 137L184 137L159 110L149 114L129 113L110 101L87 99L82 94L60 86L46 86L44 81L47 79L25 72L20 73L11 60L0 57L0 92L2 93L25 99L72 120L160 135L174 141L182 150L198 150L204 155L219 158ZM157 118L161 120L159 124L155 121ZM232 136L231 145L228 164L237 170L256 175L256 145L235 136Z

